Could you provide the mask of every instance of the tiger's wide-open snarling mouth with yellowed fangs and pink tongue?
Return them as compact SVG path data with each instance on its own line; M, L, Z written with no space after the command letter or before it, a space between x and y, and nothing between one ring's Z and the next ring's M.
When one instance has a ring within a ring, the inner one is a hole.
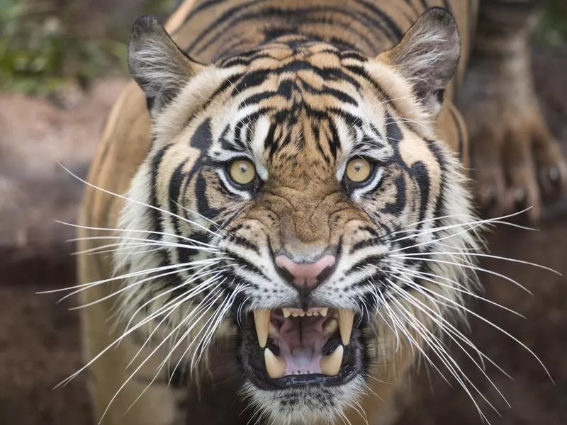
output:
M364 344L351 310L313 307L255 310L242 329L247 377L262 389L341 385L363 369Z

